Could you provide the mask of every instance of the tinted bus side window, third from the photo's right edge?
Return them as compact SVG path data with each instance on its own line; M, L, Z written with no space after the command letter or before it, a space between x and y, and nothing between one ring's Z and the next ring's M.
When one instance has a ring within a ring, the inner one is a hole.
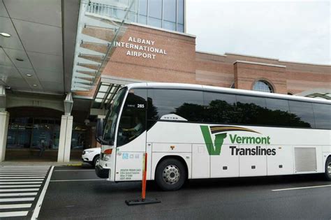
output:
M288 101L277 98L265 98L267 107L265 123L270 126L290 126Z

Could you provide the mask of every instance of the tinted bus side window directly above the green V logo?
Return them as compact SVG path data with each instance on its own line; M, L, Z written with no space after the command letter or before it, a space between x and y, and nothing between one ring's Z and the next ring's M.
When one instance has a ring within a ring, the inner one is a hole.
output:
M205 117L204 122L219 124L235 124L235 95L204 92Z

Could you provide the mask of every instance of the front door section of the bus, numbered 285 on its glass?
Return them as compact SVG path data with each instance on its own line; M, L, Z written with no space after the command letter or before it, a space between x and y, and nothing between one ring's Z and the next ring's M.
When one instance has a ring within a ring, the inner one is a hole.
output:
M142 179L146 151L146 89L130 89L117 131L115 181Z

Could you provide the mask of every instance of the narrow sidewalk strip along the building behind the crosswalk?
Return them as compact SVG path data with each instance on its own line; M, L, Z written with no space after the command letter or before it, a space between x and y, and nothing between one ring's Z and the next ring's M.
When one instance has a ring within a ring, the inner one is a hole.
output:
M3 161L0 163L1 166L82 166L82 161Z

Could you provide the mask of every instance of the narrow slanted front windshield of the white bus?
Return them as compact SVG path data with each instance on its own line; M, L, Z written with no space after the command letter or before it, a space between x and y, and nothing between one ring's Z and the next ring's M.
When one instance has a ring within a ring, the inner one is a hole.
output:
M103 133L103 140L105 141L115 140L115 131L119 117L119 110L121 109L125 93L126 93L126 87L119 89L119 91L115 95L112 105L110 106L110 110L107 116L105 117L105 124L104 124L105 130Z

